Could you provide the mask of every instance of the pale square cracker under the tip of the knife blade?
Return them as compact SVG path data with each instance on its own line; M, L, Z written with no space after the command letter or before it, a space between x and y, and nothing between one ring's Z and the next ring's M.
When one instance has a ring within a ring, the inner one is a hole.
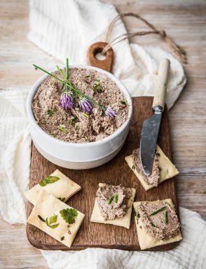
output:
M159 167L161 168L161 170L159 171L160 175L159 175L159 183L158 183L160 184L166 179L170 179L171 177L178 175L179 171L176 169L176 167L170 161L170 159L168 159L168 157L164 154L161 148L159 148L158 145L157 145L157 153L159 153L159 156L157 155L157 158L159 162ZM132 155L125 157L125 160L128 163L128 166L133 170L133 172L135 173L135 176L137 177L137 179L139 179L141 185L144 187L145 190L150 190L155 187L152 184L149 185L148 183L146 183L142 175L139 172L137 172L136 168L134 168Z

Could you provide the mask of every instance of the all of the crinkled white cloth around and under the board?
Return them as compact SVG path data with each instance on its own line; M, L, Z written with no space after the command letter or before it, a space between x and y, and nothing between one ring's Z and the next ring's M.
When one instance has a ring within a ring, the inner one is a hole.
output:
M108 23L117 14L114 6L96 0L30 1L29 38L40 48L65 61L85 64L88 46L104 41ZM114 36L126 32L117 23ZM112 37L113 38L113 37ZM160 48L123 41L114 47L113 72L132 96L152 95L161 57L171 61L167 103L170 108L186 79L181 63ZM50 66L48 68L51 68ZM25 223L25 199L30 173L30 133L25 101L27 89L0 92L0 211L10 223ZM183 241L168 252L127 252L87 249L80 252L42 251L49 268L204 268L206 224L190 210L180 208Z

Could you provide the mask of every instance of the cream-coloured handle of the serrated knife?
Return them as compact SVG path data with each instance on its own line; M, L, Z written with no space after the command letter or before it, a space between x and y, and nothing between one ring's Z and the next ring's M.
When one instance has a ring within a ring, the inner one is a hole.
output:
M155 94L152 103L152 108L163 111L165 106L165 93L168 86L168 77L170 73L170 61L162 59L159 63L159 70L157 75L157 83L155 85Z

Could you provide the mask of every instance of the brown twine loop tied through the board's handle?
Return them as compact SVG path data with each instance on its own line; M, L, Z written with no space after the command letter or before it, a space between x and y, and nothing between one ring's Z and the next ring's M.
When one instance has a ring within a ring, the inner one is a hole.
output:
M148 27L150 27L152 30L141 31L141 32L129 32L126 34L121 34L121 35L119 35L119 37L116 37L115 39L113 39L113 41L110 42L111 32L115 26L116 21L118 21L119 19L122 19L123 17L126 17L126 16L132 16L132 17L136 17L137 19L140 19L141 21L146 23L146 25ZM176 54L176 57L178 57L182 61L182 63L187 63L187 57L186 57L185 50L183 50L183 48L181 48L180 46L176 45L176 43L174 43L172 38L168 37L165 30L158 30L157 28L155 28L155 26L153 26L151 23L149 23L146 19L142 18L141 16L139 16L139 14L134 13L134 12L119 13L113 19L113 21L111 21L111 23L108 27L108 32L106 34L106 43L108 43L108 45L104 48L104 50L102 50L102 54L105 54L112 46L114 46L115 44L117 44L125 39L129 39L131 37L136 37L138 35L139 36L146 35L146 34L159 34L165 40L165 42L168 43L168 46L170 46L170 48L172 49L174 54Z

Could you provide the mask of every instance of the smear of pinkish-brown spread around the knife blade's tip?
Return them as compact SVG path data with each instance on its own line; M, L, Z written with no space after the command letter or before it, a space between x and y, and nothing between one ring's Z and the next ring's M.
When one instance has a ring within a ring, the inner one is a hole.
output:
M155 152L155 157L153 161L153 166L152 166L152 172L151 174L146 177L144 175L144 172L141 169L141 163L139 159L139 148L137 150L133 150L133 164L135 168L137 169L137 172L142 175L144 181L148 183L149 185L153 186L158 186L158 181L159 181L159 165L158 165L158 158L157 158L157 152Z

